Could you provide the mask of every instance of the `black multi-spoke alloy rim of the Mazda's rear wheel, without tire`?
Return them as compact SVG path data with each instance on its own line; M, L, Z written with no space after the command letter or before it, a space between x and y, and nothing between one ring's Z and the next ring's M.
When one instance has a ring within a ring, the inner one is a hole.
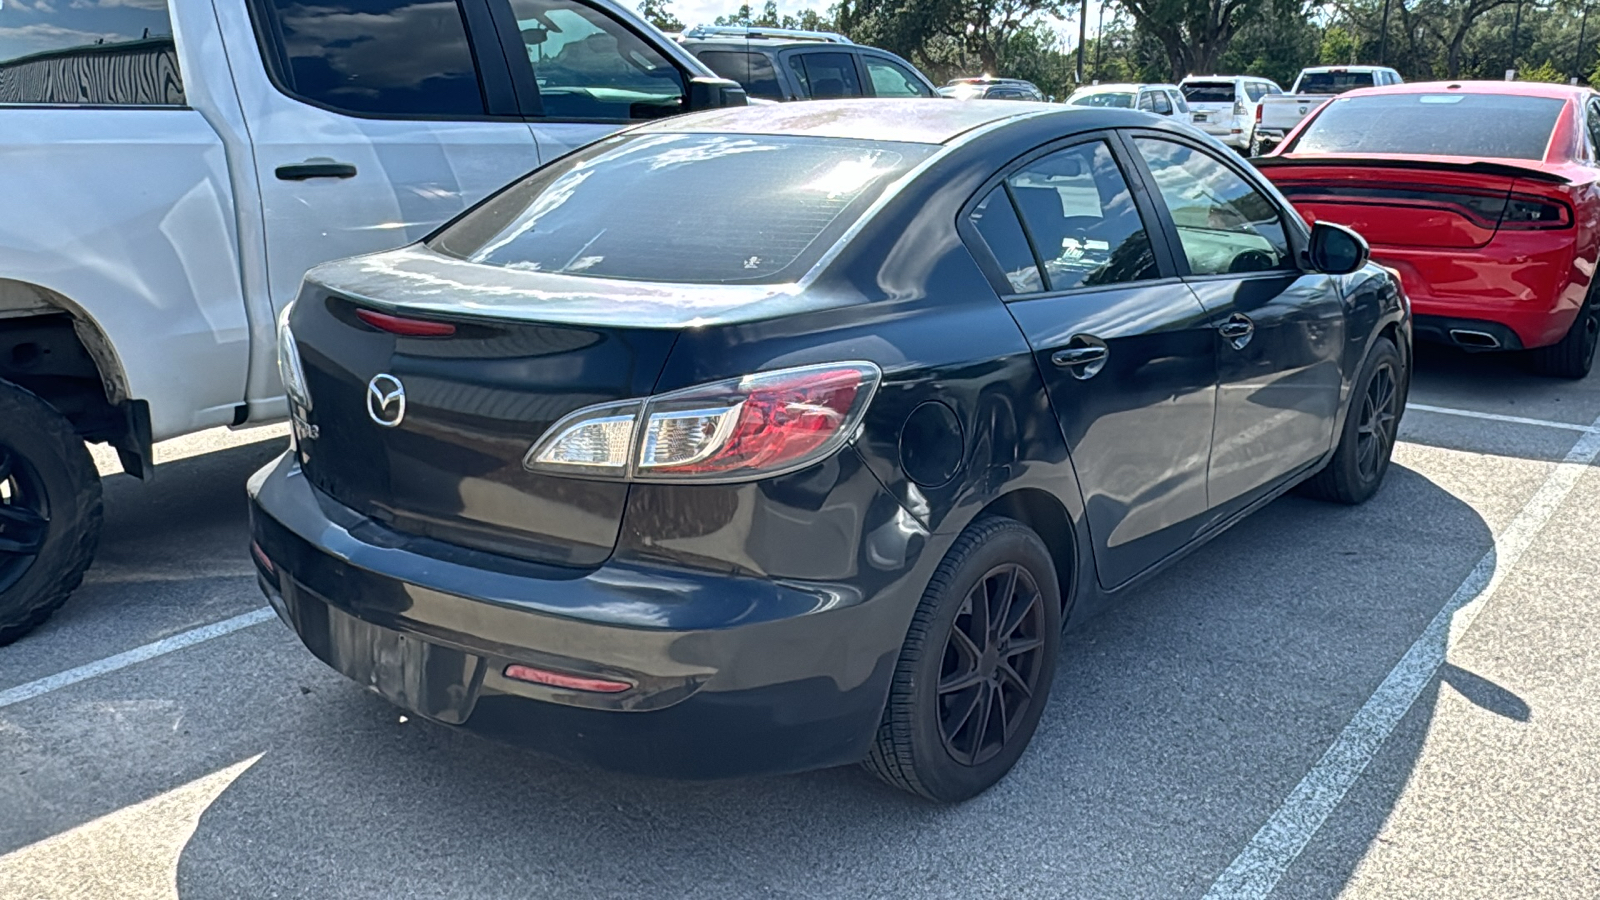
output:
M1005 749L1026 719L1043 671L1043 594L1011 562L984 575L955 617L939 668L939 737L963 765Z

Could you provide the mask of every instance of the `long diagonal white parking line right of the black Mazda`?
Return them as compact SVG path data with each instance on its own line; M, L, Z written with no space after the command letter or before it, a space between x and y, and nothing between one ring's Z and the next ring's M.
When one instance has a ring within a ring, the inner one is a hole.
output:
M1506 575L1517 565L1534 538L1555 514L1579 476L1600 456L1600 420L1578 426L1584 436L1544 479L1539 490L1517 512L1494 546L1472 567L1445 609L1438 610L1422 636L1395 663L1378 690L1362 705L1333 746L1322 754L1301 783L1256 831L1238 857L1206 890L1205 900L1259 900L1272 894L1278 879L1322 828L1344 794L1378 754L1389 733L1411 709L1411 703L1434 679L1450 647L1461 641L1483 604L1494 596Z

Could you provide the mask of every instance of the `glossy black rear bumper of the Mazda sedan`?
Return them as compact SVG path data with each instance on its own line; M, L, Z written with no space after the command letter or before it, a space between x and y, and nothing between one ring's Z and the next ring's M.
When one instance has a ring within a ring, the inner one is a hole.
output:
M709 778L861 759L912 609L848 585L440 559L357 520L290 456L250 496L261 586L312 653L418 716L606 769ZM510 665L632 687L528 684Z

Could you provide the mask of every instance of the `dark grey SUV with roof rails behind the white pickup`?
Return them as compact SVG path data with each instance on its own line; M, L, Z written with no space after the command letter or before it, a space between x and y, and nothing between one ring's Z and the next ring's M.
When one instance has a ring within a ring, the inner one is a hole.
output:
M678 42L757 99L938 96L910 62L832 32L696 26Z

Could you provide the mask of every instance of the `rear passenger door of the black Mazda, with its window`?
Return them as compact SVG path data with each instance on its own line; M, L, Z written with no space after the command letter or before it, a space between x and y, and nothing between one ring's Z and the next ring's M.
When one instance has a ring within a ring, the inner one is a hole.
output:
M1203 524L1216 402L1205 309L1136 197L1098 136L1021 163L963 224L1034 351L1106 586Z

